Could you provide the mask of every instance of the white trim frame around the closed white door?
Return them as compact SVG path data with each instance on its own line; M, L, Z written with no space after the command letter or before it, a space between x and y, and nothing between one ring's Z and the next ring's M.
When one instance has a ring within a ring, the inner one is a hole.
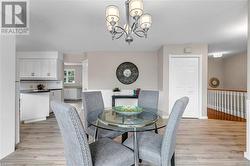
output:
M198 78L198 81L199 81L199 92L198 92L198 113L197 113L197 117L194 117L194 118L198 118L198 119L201 119L202 118L202 100L203 100L203 97L202 97L202 55L201 54L170 54L169 55L169 85L168 85L168 88L169 88L169 92L168 92L168 97L169 97L169 100L170 100L170 97L171 97L171 94L170 94L170 72L171 72L171 68L170 68L170 63L171 63L171 58L198 58L198 73L199 73L199 78ZM172 108L170 106L170 102L168 103L168 107L169 107L169 114L171 113L172 111ZM190 117L187 117L187 118L190 118Z

